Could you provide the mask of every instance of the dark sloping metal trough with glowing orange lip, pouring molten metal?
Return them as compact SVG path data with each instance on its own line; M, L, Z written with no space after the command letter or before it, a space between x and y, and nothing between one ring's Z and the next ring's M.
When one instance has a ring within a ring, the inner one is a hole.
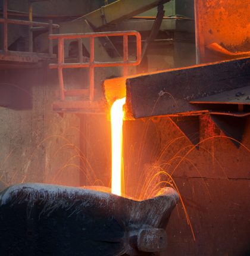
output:
M158 71L104 82L107 101L126 96L126 118L197 114L208 111L190 101L249 86L250 58ZM211 107L211 104L210 104Z

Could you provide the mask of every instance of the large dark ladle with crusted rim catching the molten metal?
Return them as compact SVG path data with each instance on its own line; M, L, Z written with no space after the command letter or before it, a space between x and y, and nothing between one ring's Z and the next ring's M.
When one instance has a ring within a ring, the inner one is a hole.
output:
M90 189L26 183L2 191L0 226L8 232L0 235L1 254L120 256L164 251L164 229L179 200L174 189L162 188L143 201Z

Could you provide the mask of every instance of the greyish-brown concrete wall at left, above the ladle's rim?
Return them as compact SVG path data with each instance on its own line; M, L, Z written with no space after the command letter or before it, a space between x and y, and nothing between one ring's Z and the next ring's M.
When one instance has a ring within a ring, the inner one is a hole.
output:
M44 68L1 70L0 189L13 183L79 186L79 118L52 113L57 76Z

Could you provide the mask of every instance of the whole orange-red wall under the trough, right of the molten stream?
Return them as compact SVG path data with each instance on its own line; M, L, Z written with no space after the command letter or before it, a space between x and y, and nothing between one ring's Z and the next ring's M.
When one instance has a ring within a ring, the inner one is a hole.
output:
M217 126L211 127L207 119L210 115L204 117L201 116L203 142L199 148L190 145L168 117L159 118L157 123L153 123L156 118L124 121L124 166L127 186L130 186L126 191L130 195L140 193L143 179L155 166L160 170L164 166L164 171L170 174L174 171L172 177L183 196L195 233L196 241L193 241L183 208L178 204L167 227L168 248L161 256L246 256L250 252L250 154L243 146L249 148L250 145L250 118L243 145L236 148L230 139L223 138ZM212 138L216 135L217 138ZM177 168L180 160L176 156L183 159ZM141 163L136 162L139 157L143 159ZM156 183L161 181L167 178L159 177Z

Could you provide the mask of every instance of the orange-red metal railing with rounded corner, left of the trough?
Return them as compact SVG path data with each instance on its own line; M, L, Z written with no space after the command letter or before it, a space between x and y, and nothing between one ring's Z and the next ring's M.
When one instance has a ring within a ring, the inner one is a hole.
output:
M98 62L95 61L95 38L106 36L123 36L123 61L114 62ZM129 45L128 37L136 37L136 61L129 61ZM79 63L64 63L64 40L82 40L89 38L89 62L83 63L82 57L82 43L79 43ZM58 79L60 84L61 100L65 99L64 80L62 70L63 68L89 68L89 101L94 99L94 69L95 67L123 67L123 75L127 76L129 66L139 65L142 57L141 51L141 37L140 33L136 31L125 32L99 32L99 33L86 33L86 34L61 34L49 35L49 39L58 39L58 64L49 64L50 68L58 69ZM76 95L75 95L76 96Z

